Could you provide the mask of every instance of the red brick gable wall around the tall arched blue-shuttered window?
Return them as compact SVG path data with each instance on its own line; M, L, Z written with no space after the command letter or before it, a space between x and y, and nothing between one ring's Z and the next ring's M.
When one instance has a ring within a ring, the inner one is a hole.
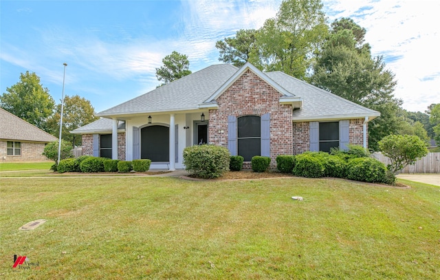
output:
M292 154L292 106L280 105L281 94L248 70L219 98L219 109L209 110L209 142L228 147L228 116L270 113L270 158ZM221 132L223 131L223 132Z

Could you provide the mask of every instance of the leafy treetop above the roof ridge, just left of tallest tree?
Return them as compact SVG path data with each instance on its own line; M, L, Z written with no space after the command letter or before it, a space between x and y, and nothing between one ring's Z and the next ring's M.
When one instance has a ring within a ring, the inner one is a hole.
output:
M250 61L251 53L254 52L256 30L239 30L235 37L217 41L215 47L219 49L219 61L231 63L236 67L243 66Z

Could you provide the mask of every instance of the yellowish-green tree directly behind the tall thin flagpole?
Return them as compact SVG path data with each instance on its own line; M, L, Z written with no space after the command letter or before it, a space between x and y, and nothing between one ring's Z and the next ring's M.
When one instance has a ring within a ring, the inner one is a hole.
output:
M89 100L76 96L65 96L64 108L63 108L63 132L61 138L72 143L73 147L81 145L81 137L70 133L78 127L87 125L90 122L98 120L95 115L95 109L91 106ZM61 104L56 106L56 112L48 120L46 124L47 132L53 136L58 137L60 135L60 116L61 116Z

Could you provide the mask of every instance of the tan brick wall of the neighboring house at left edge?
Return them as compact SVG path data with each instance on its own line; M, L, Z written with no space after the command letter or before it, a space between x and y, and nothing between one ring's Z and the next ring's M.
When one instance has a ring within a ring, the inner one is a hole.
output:
M15 141L21 142L21 141ZM42 155L45 143L21 142L21 155L8 155L8 141L0 141L0 162L44 162L49 161ZM5 159L3 160L3 157Z

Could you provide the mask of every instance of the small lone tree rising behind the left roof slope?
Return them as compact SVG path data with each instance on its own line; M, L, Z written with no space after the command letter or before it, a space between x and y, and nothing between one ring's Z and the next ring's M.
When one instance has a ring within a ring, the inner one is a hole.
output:
M164 63L164 66L156 68L157 80L163 82L159 87L192 73L189 69L190 61L188 61L188 56L185 54L174 51L165 56L162 63Z

